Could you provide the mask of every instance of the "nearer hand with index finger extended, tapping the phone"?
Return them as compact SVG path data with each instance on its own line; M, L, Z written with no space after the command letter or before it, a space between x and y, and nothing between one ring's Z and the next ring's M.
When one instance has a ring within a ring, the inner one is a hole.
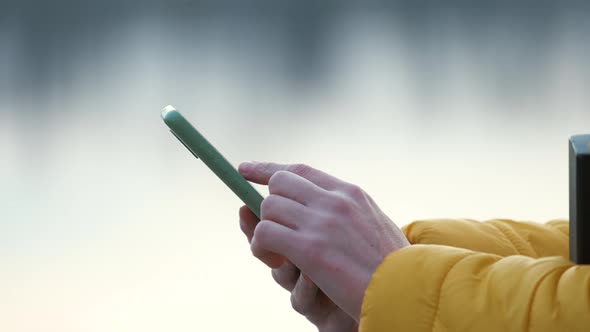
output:
M373 272L409 245L403 233L358 186L309 166L243 163L239 171L270 193L252 236L254 256L275 269L286 258L358 322Z

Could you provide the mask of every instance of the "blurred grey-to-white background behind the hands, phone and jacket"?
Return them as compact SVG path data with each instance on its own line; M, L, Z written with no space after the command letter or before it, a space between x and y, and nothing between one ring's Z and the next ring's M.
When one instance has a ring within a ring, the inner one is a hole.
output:
M400 226L543 222L589 59L582 1L2 1L0 330L315 330L168 104L233 164L307 163Z

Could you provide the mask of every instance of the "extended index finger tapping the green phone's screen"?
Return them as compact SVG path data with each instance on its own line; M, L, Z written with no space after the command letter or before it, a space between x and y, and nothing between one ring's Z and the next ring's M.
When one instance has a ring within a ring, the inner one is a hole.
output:
M278 164L269 162L244 162L238 167L240 174L248 181L268 185L271 176L278 171L297 174L315 185L329 191L337 190L344 181L305 164Z

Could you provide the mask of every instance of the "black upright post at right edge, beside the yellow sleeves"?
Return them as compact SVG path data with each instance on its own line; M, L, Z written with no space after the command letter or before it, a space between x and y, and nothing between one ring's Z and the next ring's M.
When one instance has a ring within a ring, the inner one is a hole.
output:
M570 137L570 260L590 264L590 134Z

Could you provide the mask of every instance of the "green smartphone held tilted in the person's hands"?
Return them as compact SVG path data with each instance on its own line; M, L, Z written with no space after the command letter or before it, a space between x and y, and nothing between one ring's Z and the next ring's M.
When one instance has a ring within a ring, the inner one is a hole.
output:
M262 195L238 173L227 159L171 105L164 107L162 119L180 143L197 159L201 159L260 219Z

